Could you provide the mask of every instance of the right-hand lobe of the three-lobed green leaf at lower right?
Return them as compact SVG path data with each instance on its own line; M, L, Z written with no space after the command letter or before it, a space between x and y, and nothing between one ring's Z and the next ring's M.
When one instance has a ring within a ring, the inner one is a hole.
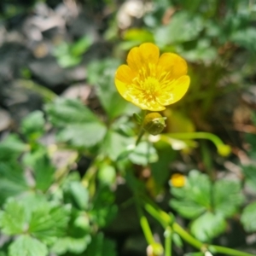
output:
M233 180L218 180L213 186L214 210L225 218L233 216L243 202L241 183Z

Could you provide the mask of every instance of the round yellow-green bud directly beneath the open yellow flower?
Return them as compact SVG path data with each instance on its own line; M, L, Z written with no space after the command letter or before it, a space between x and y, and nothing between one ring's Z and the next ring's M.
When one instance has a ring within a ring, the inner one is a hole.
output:
M148 113L143 120L143 128L152 135L160 134L166 127L166 117L160 113Z

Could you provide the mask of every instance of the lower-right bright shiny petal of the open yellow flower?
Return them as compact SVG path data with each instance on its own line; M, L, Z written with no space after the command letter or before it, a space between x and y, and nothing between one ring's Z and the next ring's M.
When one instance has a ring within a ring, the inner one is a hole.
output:
M163 90L163 93L157 97L157 101L164 106L173 104L179 101L189 89L189 76L182 76L174 80L168 86L170 89Z

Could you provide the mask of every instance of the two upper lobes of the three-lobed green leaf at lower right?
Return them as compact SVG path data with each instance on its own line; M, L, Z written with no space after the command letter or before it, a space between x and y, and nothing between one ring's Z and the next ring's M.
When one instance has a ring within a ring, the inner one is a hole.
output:
M176 198L171 206L185 218L196 218L212 208L224 218L234 215L243 202L241 183L231 180L218 180L212 187L207 175L198 171L189 172L187 182L182 188L172 188ZM212 198L212 202L211 199Z

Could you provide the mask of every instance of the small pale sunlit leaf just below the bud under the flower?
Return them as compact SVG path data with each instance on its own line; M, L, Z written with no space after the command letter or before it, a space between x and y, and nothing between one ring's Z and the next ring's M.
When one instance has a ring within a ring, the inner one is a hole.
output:
M158 160L158 154L151 143L142 142L131 151L129 159L134 164L147 166L148 163L153 163Z

